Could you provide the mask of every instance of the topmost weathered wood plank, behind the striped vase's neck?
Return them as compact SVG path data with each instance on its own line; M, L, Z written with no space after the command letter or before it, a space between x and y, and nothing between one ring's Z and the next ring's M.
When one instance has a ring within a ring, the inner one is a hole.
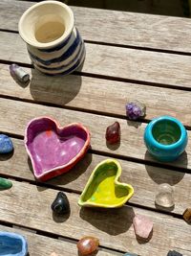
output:
M17 31L29 1L2 0L0 29ZM138 47L191 52L189 19L135 12L73 7L75 24L86 40Z

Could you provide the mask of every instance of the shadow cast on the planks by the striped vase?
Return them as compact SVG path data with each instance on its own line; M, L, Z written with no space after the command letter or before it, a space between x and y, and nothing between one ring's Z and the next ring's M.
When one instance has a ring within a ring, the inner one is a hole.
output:
M36 102L66 105L78 94L81 76L47 76L32 70L30 90Z

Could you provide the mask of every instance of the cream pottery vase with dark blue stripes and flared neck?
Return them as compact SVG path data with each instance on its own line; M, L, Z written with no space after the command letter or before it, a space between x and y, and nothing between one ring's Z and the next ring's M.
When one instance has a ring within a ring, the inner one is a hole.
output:
M58 1L37 3L23 13L18 28L37 70L68 75L83 63L84 42L67 5Z

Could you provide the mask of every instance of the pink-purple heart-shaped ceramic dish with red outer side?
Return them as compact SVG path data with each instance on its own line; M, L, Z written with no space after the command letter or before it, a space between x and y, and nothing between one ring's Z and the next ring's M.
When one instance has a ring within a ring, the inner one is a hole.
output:
M60 128L49 117L34 118L25 130L25 147L34 176L42 181L68 172L90 146L90 132L81 124Z

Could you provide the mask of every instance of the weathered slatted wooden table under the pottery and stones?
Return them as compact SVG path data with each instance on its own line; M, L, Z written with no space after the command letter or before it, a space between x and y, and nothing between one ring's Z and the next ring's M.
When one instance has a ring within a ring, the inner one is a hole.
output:
M178 17L74 7L75 24L86 43L87 56L80 72L50 78L32 68L25 43L18 35L21 14L29 1L0 3L0 130L14 144L12 155L0 156L0 174L11 178L11 190L0 194L0 230L24 234L31 256L77 255L76 242L91 235L100 240L98 256L165 256L169 250L191 255L191 226L182 212L191 207L191 141L172 164L154 160L143 143L147 123L172 115L191 129L191 21ZM14 81L9 65L19 63L31 73L31 83ZM141 122L127 120L125 104L138 99L147 105ZM74 169L49 182L35 181L24 148L27 123L50 116L61 126L80 122L91 130L92 149ZM106 128L118 121L121 141L108 148ZM81 209L77 199L97 163L108 157L122 166L121 181L133 185L135 196L122 208ZM160 183L175 190L171 212L155 207ZM70 200L71 215L53 219L50 208L58 191ZM135 214L154 222L149 243L138 244L132 219Z

